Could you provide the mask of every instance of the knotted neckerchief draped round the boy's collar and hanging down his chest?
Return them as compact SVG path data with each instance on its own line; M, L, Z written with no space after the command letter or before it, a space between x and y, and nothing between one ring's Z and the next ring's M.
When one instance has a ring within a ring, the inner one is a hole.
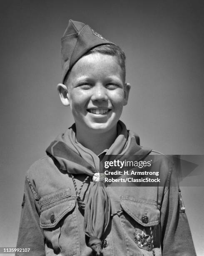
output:
M86 174L93 177L96 172L102 172L99 157L77 142L75 124L59 135L46 152L53 156L60 164L60 168L69 174ZM117 159L120 160L124 155L126 158L135 155L134 159L139 161L150 152L151 149L139 146L139 137L134 132L127 131L124 123L118 121L117 138L106 152L109 161L112 155L117 155ZM84 226L85 234L90 237L89 246L97 255L102 251L100 238L107 230L110 214L111 203L104 182L93 182L85 207Z

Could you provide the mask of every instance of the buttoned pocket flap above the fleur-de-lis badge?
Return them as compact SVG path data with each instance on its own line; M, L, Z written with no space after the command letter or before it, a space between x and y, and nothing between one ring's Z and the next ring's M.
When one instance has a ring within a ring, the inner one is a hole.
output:
M156 202L120 196L120 205L142 226L149 227L159 224L160 212Z

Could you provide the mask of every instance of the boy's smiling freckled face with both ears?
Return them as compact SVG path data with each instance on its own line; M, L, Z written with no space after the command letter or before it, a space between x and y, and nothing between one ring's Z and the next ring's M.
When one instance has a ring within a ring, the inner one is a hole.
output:
M77 132L105 133L116 129L130 89L117 56L83 56L72 67L66 85L58 84L58 90L63 105L70 105Z

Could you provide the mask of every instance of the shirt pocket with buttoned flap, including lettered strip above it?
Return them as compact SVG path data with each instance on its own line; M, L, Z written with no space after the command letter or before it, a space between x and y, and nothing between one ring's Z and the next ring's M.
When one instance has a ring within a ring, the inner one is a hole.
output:
M53 251L53 255L60 253L67 256L78 255L80 242L78 230L75 230L76 197L70 195L70 188L42 197L39 204L41 206L40 227L45 235L47 254ZM69 250L66 245L69 245Z

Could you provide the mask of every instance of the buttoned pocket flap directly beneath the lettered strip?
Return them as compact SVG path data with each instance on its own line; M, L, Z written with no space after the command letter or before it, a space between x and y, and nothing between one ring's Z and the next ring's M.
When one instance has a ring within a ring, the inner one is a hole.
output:
M65 197L41 208L40 227L53 228L76 205L76 197Z

